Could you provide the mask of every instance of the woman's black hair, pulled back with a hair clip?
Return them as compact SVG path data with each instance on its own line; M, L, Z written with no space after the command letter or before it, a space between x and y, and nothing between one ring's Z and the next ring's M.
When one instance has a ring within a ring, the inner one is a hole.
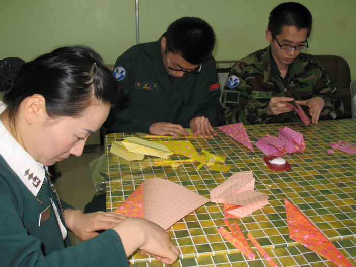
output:
M17 78L9 83L4 86L4 103L14 125L21 102L34 94L45 98L50 118L80 117L95 100L115 104L118 94L116 81L101 56L86 46L60 47L40 55L22 65Z

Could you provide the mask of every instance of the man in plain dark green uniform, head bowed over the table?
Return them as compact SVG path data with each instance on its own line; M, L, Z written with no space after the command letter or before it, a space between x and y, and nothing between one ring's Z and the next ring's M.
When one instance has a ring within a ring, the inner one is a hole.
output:
M154 135L216 135L221 90L211 55L213 28L204 20L174 21L156 42L134 45L118 57L113 71L121 92L104 124L116 132Z

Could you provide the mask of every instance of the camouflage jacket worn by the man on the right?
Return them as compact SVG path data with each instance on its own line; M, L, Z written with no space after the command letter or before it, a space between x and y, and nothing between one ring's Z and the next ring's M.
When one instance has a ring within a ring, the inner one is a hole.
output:
M270 46L236 63L231 68L223 90L224 113L221 124L301 122L296 111L268 115L267 107L271 97L307 100L322 96L327 104L320 114L320 120L331 120L343 113L339 92L312 55L300 53L289 65L289 69L291 76L285 88L280 76L273 75ZM304 105L301 107L309 115L309 108Z

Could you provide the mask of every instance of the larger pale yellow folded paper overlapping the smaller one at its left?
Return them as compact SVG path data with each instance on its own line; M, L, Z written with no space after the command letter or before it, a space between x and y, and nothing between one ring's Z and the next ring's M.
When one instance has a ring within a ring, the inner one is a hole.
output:
M121 143L130 152L146 154L151 156L167 159L170 153L169 149L162 144L158 144L152 141L143 140L137 137L126 137Z

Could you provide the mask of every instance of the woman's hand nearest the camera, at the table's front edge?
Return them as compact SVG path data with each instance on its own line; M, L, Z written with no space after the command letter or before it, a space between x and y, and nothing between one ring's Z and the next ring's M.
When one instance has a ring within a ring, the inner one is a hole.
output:
M179 250L159 225L141 218L128 218L113 228L120 235L129 257L137 248L140 255L151 255L165 264L177 261Z

